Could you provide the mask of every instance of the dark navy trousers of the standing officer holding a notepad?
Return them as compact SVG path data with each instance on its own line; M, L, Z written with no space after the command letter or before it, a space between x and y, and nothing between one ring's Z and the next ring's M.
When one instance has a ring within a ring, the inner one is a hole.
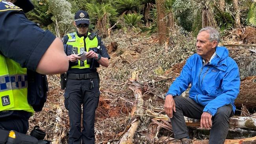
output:
M94 144L95 111L99 102L99 80L93 78L93 88L90 79L68 79L65 90L65 107L69 111L70 131L69 144ZM81 114L83 105L83 129L81 132Z

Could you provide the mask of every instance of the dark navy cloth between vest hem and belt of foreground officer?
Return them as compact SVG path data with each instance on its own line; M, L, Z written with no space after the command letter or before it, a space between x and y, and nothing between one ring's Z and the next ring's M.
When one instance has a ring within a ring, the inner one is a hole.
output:
M28 119L18 117L0 118L0 128L26 134L28 131Z

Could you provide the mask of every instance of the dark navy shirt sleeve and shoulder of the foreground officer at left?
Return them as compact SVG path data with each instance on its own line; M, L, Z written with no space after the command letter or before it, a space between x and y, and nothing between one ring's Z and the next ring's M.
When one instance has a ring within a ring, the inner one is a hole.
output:
M41 57L56 39L28 20L22 9L0 0L0 53L35 71Z

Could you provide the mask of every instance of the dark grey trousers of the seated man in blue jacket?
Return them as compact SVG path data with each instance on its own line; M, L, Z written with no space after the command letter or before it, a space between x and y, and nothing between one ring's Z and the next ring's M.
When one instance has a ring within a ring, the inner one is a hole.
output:
M174 138L188 137L188 130L184 116L201 119L204 107L191 98L175 96L176 113L173 113L171 124L173 126ZM232 105L220 107L212 118L209 144L224 144L228 134L229 118L233 116Z

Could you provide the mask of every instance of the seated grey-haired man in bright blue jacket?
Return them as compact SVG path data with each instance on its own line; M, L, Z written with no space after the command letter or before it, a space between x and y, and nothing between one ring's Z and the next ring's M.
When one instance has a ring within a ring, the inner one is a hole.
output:
M228 57L225 47L217 46L219 41L217 30L201 29L197 54L187 59L166 94L165 113L171 118L174 138L184 144L192 144L184 116L200 119L200 127L211 129L209 144L223 144L228 134L228 119L236 110L240 79L236 62ZM181 97L189 84L189 98Z

